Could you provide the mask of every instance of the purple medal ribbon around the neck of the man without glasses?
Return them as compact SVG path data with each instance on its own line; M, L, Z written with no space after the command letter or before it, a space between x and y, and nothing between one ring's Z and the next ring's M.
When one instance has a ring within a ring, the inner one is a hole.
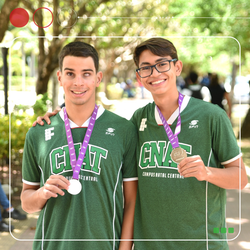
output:
M75 152L73 137L72 137L71 128L69 124L69 119L68 119L68 115L66 112L66 108L64 108L64 124L65 124L66 136L67 136L67 141L68 141L68 147L69 147L70 164L73 170L73 179L76 179L76 180L79 179L81 166L84 160L84 156L85 156L88 144L89 144L89 140L90 140L94 125L95 125L97 109L98 107L97 105L95 105L95 109L91 115L89 125L88 125L86 134L83 139L82 147L81 147L78 159L76 161L76 152Z

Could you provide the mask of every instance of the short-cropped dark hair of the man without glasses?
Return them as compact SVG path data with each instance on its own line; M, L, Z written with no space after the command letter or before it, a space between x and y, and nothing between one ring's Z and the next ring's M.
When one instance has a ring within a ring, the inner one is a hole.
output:
M71 42L65 45L59 54L59 68L62 71L63 59L65 56L92 57L96 72L99 69L99 56L96 49L88 43Z

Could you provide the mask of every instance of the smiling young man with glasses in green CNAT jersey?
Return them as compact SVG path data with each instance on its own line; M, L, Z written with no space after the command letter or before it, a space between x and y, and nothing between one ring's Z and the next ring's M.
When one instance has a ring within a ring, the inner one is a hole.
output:
M226 227L226 189L247 184L227 114L178 92L183 65L170 41L142 42L134 61L154 99L131 118L139 133L134 250L226 250L216 230Z

